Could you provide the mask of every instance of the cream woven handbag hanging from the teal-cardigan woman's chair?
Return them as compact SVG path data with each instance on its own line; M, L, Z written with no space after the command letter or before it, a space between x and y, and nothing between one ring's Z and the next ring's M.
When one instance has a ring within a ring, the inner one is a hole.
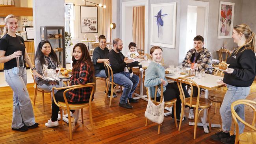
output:
M148 94L150 94L150 92ZM145 117L152 122L161 124L163 122L164 107L164 99L161 103L159 103L159 105L155 105L155 103L153 103L152 100L148 100L147 109L145 111Z

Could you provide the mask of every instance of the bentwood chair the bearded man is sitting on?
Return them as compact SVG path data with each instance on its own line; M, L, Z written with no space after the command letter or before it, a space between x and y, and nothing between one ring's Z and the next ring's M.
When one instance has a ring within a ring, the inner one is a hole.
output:
M107 75L107 84L106 84L106 94L105 94L105 102L106 102L106 99L108 97L108 89L109 89L109 86L111 86L111 94L110 94L110 101L109 101L109 107L111 107L111 102L112 102L112 98L113 98L113 94L114 94L114 89L118 86L120 86L120 90L121 90L121 95L122 95L122 85L118 85L117 83L114 83L114 76L113 76L113 70L111 68L111 66L104 62L104 66L105 66L105 69L108 70L108 75ZM111 81L110 81L110 78L111 78ZM128 103L129 103L129 100L128 100ZM130 104L130 103L129 103Z

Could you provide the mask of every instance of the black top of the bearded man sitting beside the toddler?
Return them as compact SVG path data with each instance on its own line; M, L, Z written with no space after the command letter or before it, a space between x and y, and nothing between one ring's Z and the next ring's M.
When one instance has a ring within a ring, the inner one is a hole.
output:
M124 55L121 52L116 53L114 50L111 50L107 57L110 60L109 62L111 64L113 74L124 71L126 63L124 62Z

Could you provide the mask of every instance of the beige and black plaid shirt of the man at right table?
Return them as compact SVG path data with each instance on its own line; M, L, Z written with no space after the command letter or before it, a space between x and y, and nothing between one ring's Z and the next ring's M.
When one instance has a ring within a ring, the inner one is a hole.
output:
M196 52L195 48L189 50L186 54L185 59L182 62L182 67L191 67L191 63L188 63L187 61L191 59L192 54ZM200 64L198 66L199 70L205 71L208 74L212 73L212 65L211 65L211 53L206 48L202 48L202 51L200 53L200 57L197 60L197 63Z

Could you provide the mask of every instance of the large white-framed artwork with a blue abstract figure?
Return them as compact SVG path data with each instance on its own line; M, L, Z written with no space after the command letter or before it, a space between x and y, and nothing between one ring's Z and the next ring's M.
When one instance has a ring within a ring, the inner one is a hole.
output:
M151 5L151 45L175 48L176 6L176 2Z

